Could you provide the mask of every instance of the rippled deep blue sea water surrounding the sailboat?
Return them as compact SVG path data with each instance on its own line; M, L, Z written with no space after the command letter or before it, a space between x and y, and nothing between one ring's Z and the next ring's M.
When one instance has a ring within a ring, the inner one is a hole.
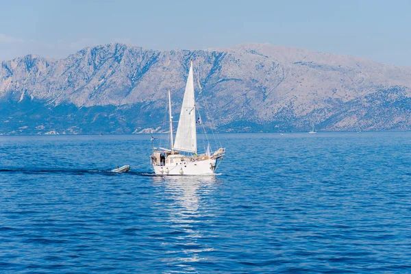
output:
M215 177L149 138L0 136L0 272L411 272L410 132L226 134Z

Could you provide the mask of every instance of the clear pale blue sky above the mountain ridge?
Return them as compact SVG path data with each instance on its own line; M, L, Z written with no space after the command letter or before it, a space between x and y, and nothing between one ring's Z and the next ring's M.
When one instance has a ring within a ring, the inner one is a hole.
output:
M0 0L0 60L64 58L110 42L147 49L269 42L411 66L411 1Z

